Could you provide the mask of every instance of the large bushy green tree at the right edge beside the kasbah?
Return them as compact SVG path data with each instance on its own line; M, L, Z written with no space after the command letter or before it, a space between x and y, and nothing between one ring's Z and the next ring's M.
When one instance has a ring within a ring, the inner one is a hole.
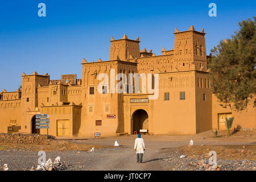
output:
M212 92L226 107L246 109L250 99L256 106L256 17L239 23L231 39L210 51L208 67Z

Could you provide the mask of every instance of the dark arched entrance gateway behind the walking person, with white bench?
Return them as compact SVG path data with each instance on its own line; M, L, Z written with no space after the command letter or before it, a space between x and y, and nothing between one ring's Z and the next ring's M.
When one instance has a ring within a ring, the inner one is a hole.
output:
M131 117L131 134L134 134L134 131L139 132L139 130L148 130L148 115L147 112L143 109L138 109L134 111Z

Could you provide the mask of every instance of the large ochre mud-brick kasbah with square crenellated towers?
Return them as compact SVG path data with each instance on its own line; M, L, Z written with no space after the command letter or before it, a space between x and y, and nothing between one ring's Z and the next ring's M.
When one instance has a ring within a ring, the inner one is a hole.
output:
M150 134L193 135L225 130L225 118L231 116L233 127L256 127L251 103L245 111L234 111L222 107L210 92L204 29L175 28L174 36L174 49L163 48L159 56L152 49L140 51L139 38L111 37L109 61L83 59L82 80L76 75L50 80L47 73L23 73L21 89L0 93L0 133L47 134L47 129L36 129L36 113L49 114L48 133L57 137L93 137L94 133L108 137L140 129ZM108 85L103 88L108 93L97 92L101 82L97 76L110 77L110 69L127 78L129 73L158 73L159 97L149 100L151 94L142 93L142 88L139 93L110 93Z

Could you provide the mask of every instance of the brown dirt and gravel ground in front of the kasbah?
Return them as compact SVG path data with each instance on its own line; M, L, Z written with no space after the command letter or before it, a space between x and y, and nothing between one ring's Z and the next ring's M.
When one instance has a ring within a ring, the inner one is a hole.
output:
M230 137L226 137L226 131L219 134L221 137L217 138L213 137L212 131L183 136L142 135L146 146L142 164L137 164L133 149L137 135L57 139L44 146L0 143L0 166L8 164L10 170L29 170L37 165L38 151L43 150L47 159L60 156L67 164L67 170L202 171L209 169L209 151L216 151L217 164L221 166L218 170L255 171L255 132L238 132ZM191 139L193 146L188 146ZM114 147L115 141L119 147ZM96 150L88 152L92 147ZM186 157L180 158L181 155Z

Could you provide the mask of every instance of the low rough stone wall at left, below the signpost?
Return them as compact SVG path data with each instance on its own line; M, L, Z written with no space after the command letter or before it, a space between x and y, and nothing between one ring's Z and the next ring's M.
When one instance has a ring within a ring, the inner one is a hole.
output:
M23 143L23 144L50 144L53 136L38 134L5 134L0 133L0 142L4 143Z

